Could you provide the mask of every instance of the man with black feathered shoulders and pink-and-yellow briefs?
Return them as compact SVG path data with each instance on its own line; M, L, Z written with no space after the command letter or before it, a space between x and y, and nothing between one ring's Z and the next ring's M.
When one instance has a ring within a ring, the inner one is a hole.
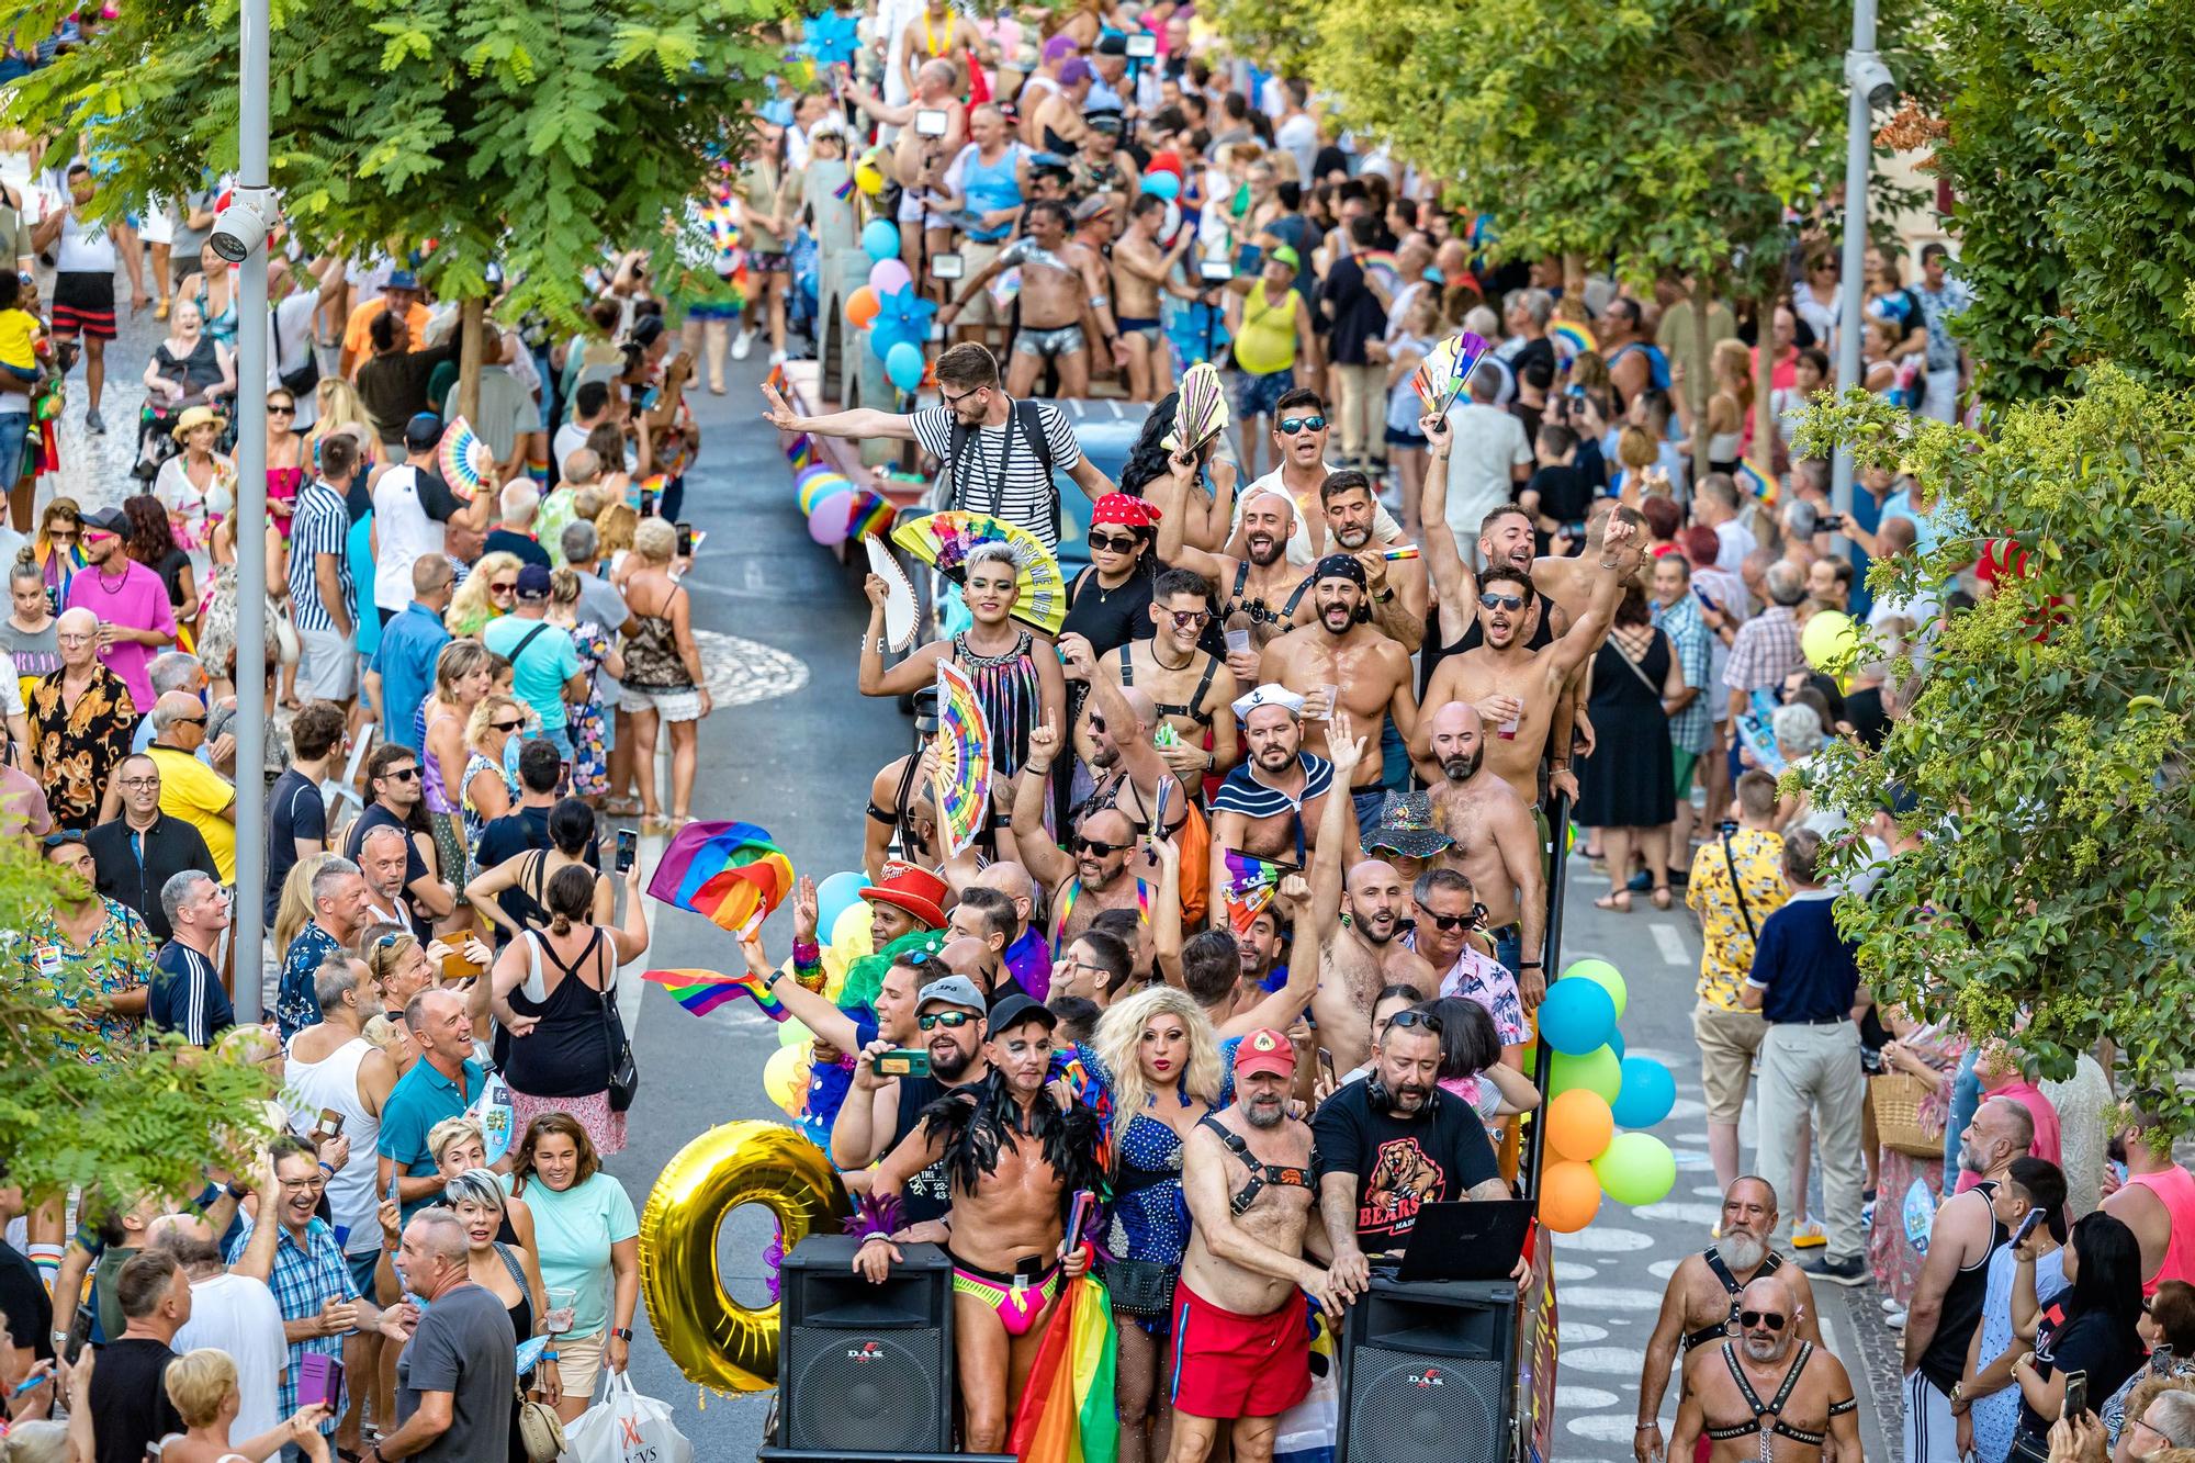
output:
M1067 1202L1098 1188L1098 1116L1056 1105L1049 1010L1008 997L992 1013L992 1074L922 1114L876 1171L871 1199L898 1197L900 1186L942 1162L953 1186L953 1327L968 1452L1003 1452L1021 1384L1045 1340L1060 1281L1089 1270L1089 1248L1065 1243ZM865 1206L871 1219L880 1204ZM854 1257L854 1270L882 1283L902 1261L878 1226Z

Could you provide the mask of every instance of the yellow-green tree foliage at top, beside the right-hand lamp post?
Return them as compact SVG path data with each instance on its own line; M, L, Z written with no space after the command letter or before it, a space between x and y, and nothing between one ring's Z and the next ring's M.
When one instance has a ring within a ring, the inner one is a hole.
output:
M1918 4L1881 48L1921 88ZM1495 217L1504 255L1780 277L1787 209L1844 176L1850 13L1806 0L1227 0L1242 44L1335 99L1341 121ZM1310 42L1302 40L1310 29ZM1886 191L1888 198L1888 191Z

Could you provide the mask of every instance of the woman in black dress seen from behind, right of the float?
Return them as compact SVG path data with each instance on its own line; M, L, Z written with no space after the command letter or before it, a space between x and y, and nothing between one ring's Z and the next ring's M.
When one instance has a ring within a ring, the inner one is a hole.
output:
M1578 813L1600 828L1609 892L1600 909L1629 912L1631 855L1655 874L1655 909L1668 909L1668 828L1677 813L1677 769L1670 760L1668 714L1688 696L1684 668L1668 635L1646 613L1646 591L1624 584L1616 624L1594 655L1594 756L1578 762Z

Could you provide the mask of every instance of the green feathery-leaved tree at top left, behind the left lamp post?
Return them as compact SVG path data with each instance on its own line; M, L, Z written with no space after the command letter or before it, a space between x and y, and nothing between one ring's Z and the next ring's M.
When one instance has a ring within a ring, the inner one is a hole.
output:
M31 0L18 33L75 0ZM489 264L505 312L573 321L606 246L650 244L738 154L799 0L274 0L270 182L307 246L432 242L428 283L465 310L479 369ZM81 125L114 165L108 209L237 163L235 0L143 0L7 110Z

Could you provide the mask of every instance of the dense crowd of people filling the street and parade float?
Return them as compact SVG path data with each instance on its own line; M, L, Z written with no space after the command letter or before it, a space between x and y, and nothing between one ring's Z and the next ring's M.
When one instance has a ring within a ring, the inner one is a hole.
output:
M812 1032L799 1116L858 1197L856 1270L953 1261L966 1450L1005 1450L1095 1263L1122 1459L1271 1456L1319 1318L1420 1208L1519 1193L1565 828L1600 909L1681 901L1703 942L1725 1197L1644 1353L1640 1463L1857 1459L1813 1287L1870 1283L1905 1336L1907 1463L2195 1445L2195 1177L2169 1133L2118 1103L2109 1050L2050 1083L2017 1030L1877 1004L1833 914L1940 830L1896 786L1826 806L1809 769L1877 751L1945 619L2019 573L1978 551L1872 593L1872 558L1978 529L1890 472L1837 516L1796 450L1848 288L1866 389L1965 409L1949 250L1839 281L1802 226L1789 297L1749 319L1681 277L1497 264L1407 160L1170 2L889 0L716 174L729 255L698 202L676 268L606 257L582 332L489 319L474 492L439 464L459 332L421 259L277 237L270 373L239 382L257 325L206 248L217 180L101 222L66 134L0 134L0 446L24 446L0 826L59 890L9 969L57 1008L57 1061L213 1048L263 1074L281 1133L195 1195L0 1188L0 1459L516 1461L531 1410L577 1419L628 1364L639 1224L601 1162L650 920L619 824L694 817L711 712L685 393L724 393L757 340L773 367L821 343L876 222L937 308L937 402L803 415L766 389L766 420L911 444L950 507L1047 551L1062 490L1091 523L1056 635L1016 615L1003 545L904 657L869 580L841 674L891 699L966 672L986 817L957 839L935 758L889 762L836 806L867 830L871 953L828 975L806 879L790 960L742 949ZM169 334L132 481L79 503L37 402L112 431L123 310ZM1457 332L1488 351L1425 400ZM1203 362L1234 431L1183 442ZM241 391L268 406L263 606L237 604ZM1089 393L1148 404L1119 481L1032 400ZM266 666L235 661L246 613ZM1820 615L1872 630L1848 674L1804 652ZM237 716L277 727L266 767L235 764ZM268 813L255 890L239 797ZM261 901L266 969L226 938L235 898ZM266 1026L237 1024L239 980ZM1095 1243L1069 1243L1080 1191Z

